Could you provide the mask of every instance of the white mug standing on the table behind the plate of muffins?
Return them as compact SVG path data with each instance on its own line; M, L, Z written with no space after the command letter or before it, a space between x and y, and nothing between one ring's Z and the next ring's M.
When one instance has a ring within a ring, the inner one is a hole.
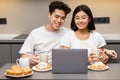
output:
M30 65L29 58L17 59L16 64L21 66L21 67L29 67L29 65Z

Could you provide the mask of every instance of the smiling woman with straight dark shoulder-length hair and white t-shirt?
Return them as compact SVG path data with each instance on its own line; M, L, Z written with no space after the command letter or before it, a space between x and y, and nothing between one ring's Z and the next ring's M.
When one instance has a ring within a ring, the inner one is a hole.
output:
M71 21L71 29L61 41L62 48L87 48L88 62L101 60L103 63L108 61L109 54L113 59L117 58L115 51L104 49L106 45L102 35L95 32L95 24L90 8L86 5L79 5L75 8ZM93 53L93 49L100 49L100 56Z

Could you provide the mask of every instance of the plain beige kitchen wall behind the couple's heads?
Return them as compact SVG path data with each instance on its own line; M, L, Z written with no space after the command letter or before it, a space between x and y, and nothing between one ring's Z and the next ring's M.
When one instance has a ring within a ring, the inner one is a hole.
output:
M0 18L7 18L7 24L0 25L1 34L29 33L32 29L49 22L48 5L52 0L0 0ZM96 24L103 34L120 34L120 0L62 0L72 10L79 4L88 5L94 17L110 17L109 24ZM67 16L65 26L69 27L72 12Z

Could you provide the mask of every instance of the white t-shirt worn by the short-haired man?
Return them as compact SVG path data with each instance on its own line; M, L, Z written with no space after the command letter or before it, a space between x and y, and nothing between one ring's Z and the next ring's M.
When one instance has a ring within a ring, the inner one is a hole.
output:
M59 48L60 41L67 31L69 31L69 29L65 27L61 27L60 30L56 32L47 31L45 26L34 29L26 38L19 53L47 53L48 62L51 63L51 50Z

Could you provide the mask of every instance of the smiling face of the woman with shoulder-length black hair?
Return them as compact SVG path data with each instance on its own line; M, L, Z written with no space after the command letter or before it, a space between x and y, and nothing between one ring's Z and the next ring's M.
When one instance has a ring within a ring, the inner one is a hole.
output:
M84 11L79 11L74 18L75 24L79 30L87 29L90 22L89 16Z

